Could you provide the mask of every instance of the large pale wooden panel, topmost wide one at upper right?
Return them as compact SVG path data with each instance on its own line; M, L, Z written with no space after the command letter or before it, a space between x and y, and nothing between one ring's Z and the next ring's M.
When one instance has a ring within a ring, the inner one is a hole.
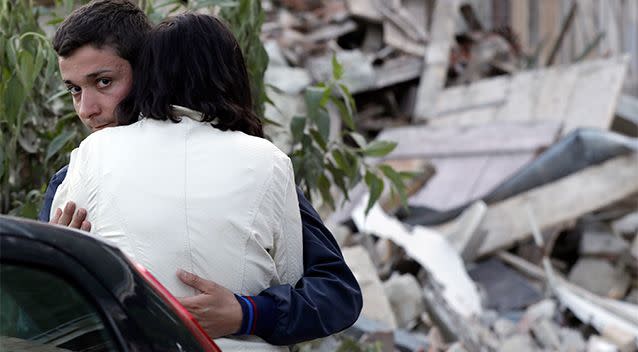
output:
M579 127L609 128L627 69L626 56L570 66L524 71L511 78L486 79L462 89L439 93L436 127L467 126L489 121L554 120L564 122L562 135ZM503 100L498 100L503 96ZM456 106L456 108L452 108ZM450 108L447 108L450 107Z

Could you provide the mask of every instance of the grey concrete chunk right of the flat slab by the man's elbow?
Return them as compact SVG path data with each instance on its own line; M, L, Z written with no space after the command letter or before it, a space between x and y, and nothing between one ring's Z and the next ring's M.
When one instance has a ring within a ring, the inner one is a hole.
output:
M419 282L410 274L394 274L383 283L383 288L397 325L404 329L412 328L425 311Z

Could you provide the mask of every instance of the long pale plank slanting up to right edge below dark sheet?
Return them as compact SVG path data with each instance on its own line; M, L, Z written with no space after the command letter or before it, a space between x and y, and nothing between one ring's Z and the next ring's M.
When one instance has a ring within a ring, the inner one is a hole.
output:
M481 228L488 232L480 255L531 235L525 218L531 207L539 227L572 220L638 192L638 154L619 156L489 207Z

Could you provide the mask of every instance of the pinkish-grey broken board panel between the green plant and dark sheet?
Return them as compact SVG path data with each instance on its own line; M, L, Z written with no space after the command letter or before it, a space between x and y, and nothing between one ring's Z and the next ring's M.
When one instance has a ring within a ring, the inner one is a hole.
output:
M407 126L383 131L389 158L431 158L436 174L409 204L447 210L480 199L558 136L556 122L505 122L464 128Z

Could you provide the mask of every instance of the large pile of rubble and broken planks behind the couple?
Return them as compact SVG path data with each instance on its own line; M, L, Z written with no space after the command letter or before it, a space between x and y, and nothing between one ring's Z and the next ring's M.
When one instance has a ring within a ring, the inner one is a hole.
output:
M264 7L267 116L288 126L303 114L303 90L335 53L360 132L396 141L383 162L424 175L408 210L385 197L364 214L359 187L330 214L364 308L341 337L299 349L343 348L343 336L383 351L638 349L627 57L524 70L515 33L456 0ZM287 128L269 128L289 151Z

